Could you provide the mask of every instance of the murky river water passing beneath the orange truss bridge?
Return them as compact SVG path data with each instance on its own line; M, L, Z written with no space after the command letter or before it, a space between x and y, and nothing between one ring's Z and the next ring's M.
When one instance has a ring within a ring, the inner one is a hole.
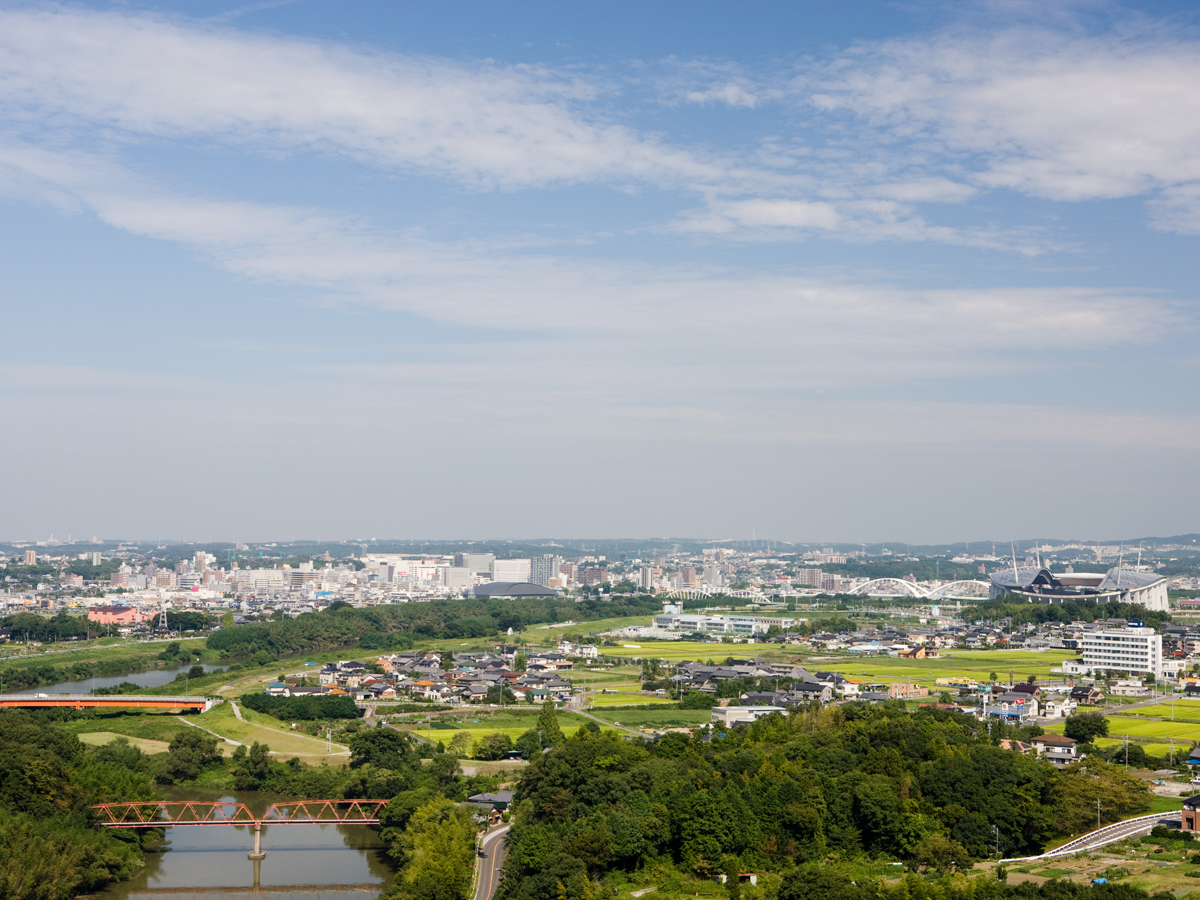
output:
M163 788L173 800L236 800L262 816L294 799L258 791ZM263 826L266 858L247 859L253 826L168 828L133 878L96 900L373 900L391 884L384 844L367 826Z

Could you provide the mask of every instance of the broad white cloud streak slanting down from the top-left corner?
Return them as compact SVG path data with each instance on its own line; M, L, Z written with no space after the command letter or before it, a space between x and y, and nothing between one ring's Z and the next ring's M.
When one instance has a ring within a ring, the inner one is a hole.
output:
M77 8L0 12L5 115L35 127L316 149L481 186L714 182L721 167L587 121L582 82Z

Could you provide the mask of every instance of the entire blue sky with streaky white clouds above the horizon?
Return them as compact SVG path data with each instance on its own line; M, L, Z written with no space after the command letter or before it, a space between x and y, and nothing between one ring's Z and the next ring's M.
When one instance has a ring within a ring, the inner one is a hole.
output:
M1194 532L1198 235L1194 2L6 2L0 540Z

